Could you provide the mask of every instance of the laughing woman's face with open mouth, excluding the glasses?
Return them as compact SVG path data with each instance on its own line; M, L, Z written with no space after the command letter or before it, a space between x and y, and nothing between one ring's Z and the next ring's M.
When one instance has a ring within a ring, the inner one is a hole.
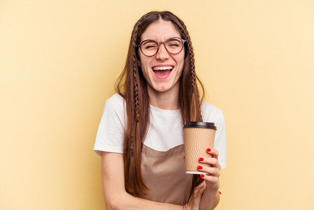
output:
M161 20L148 26L140 38L141 41L150 39L159 42L172 37L181 38L181 35L170 21ZM159 51L152 57L143 55L139 49L138 53L148 93L179 91L179 78L184 66L184 49L179 54L173 55L168 53L165 45L161 43ZM160 67L164 67L164 70Z

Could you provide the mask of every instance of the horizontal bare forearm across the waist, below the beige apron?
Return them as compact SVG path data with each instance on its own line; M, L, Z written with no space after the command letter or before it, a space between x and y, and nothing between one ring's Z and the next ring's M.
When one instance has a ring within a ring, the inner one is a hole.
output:
M171 203L161 203L155 202L139 197L134 197L127 192L120 194L115 199L111 201L106 200L107 210L119 210L119 209L128 209L128 210L139 210L139 209L169 209L169 210L183 210L184 206L175 205Z

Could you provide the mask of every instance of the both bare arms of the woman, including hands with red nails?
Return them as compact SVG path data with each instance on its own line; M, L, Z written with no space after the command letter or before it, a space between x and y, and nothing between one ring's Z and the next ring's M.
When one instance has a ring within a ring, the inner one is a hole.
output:
M209 153L217 153L212 149ZM107 210L113 209L169 209L169 210L208 210L214 209L219 202L219 171L220 164L217 157L204 158L203 163L212 164L213 167L204 167L200 171L212 175L205 175L205 180L198 185L187 204L184 206L171 203L161 203L134 197L128 194L124 188L123 156L119 153L102 152L101 168L104 199ZM216 159L216 161L214 160Z

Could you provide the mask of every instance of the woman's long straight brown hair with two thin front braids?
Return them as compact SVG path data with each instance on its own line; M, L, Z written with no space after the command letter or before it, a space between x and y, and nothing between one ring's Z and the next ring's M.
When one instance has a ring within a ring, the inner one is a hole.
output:
M147 27L160 20L172 22L181 37L186 40L178 95L182 122L202 122L201 103L204 99L204 87L195 73L194 52L185 24L168 11L147 13L134 25L126 63L115 83L116 91L125 100L127 120L123 143L124 184L125 190L133 196L142 196L148 189L141 175L141 149L149 125L150 112L146 80L138 66L136 45L140 43L140 37ZM199 175L193 175L191 192L201 181Z

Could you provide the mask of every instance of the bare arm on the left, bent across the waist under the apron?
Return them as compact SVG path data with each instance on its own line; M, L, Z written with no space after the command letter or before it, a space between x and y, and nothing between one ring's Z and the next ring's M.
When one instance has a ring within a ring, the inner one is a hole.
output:
M199 209L199 203L205 185L199 185L194 196L185 206L170 203L160 203L134 197L128 194L124 188L123 156L119 153L102 152L102 183L104 199L107 210L111 209L169 209L169 210L189 210ZM191 206L195 208L191 208Z

